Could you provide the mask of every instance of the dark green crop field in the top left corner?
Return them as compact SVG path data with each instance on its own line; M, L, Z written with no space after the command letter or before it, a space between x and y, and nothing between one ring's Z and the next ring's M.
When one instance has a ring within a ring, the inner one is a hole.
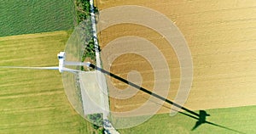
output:
M76 25L73 0L2 0L0 36L70 30Z

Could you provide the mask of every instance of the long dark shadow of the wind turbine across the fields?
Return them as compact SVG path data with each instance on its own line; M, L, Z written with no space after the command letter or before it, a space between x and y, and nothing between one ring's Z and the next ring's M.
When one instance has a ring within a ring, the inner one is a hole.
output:
M169 99L163 98L163 97L161 97L160 95L158 95L158 94L156 94L156 93L154 93L154 92L150 92L150 91L148 91L147 89L145 89L145 88L143 88L143 87L139 87L139 86L137 86L136 84L132 83L131 81L127 81L127 80L125 80L124 78L119 77L118 75L114 75L113 73L108 72L107 70L103 70L102 68L97 67L97 66L94 65L94 64L90 64L89 66L90 66L91 68L95 69L95 70L101 71L103 74L109 75L109 76L111 76L111 77L113 77L113 78L115 78L115 79L117 79L117 80L119 80L119 81L122 81L122 82L124 82L124 83L130 85L131 87L135 87L135 88L137 88L137 89L140 90L140 91L146 92L146 93L148 93L148 95L151 95L151 96L153 96L154 98L159 98L160 100L162 100L162 101L164 101L164 102L166 102L166 103L172 104L173 106L176 106L177 108L183 109L184 111L188 112L189 114L176 110L176 111L177 111L178 113L180 113L180 114L186 115L186 116L188 116L188 117L190 117L190 118L192 118L192 119L197 120L196 123L195 123L195 126L191 129L191 131L194 131L196 128L198 128L198 127L201 126L202 124L209 124L209 125L212 125L212 126L218 126L218 127L224 128L224 129L229 130L229 131L234 131L234 132L237 132L237 133L243 133L243 132L241 132L241 131L236 131L236 130L234 130L234 129L231 129L231 128L228 128L228 127L225 127L225 126L220 126L220 125L217 125L217 124L212 123L212 122L210 122L210 121L207 121L207 116L210 116L210 114L207 114L207 112L206 112L205 110L200 110L200 111L199 111L199 114L198 114L198 113L195 113L194 111L192 111L192 110L190 110L190 109L187 109L187 108L184 108L183 106L181 106L181 105L179 105L179 104L177 104L177 103L174 103L174 102L172 102L172 101L169 100ZM155 102L154 102L154 103L155 103ZM160 103L158 103L158 104L160 104ZM163 105L163 106L166 107L167 109L172 109L172 108L167 107L167 106L165 106L165 105ZM172 110L175 110L175 109L172 109Z

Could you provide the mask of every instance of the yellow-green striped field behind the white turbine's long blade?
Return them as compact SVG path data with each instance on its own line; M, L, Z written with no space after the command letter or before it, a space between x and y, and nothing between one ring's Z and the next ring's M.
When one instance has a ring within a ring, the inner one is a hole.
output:
M0 37L0 66L55 66L70 32ZM57 70L0 68L0 133L92 133L67 100Z

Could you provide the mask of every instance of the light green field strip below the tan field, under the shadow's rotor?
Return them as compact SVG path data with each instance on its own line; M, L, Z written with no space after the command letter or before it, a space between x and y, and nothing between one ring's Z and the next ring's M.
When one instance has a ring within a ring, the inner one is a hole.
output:
M215 123L219 126L228 127L230 129L241 131L243 133L256 133L256 106L247 106L229 109L209 109L207 121ZM196 120L184 114L177 114L170 117L169 114L157 114L153 118L146 121L140 126L131 127L129 129L119 130L120 133L161 133L161 134L236 134L236 131L230 131L218 126L202 124L194 131L191 131L195 126Z

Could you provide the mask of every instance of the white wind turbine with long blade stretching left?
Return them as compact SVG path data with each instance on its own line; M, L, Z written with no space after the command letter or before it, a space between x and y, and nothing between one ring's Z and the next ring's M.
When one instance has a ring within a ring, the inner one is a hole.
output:
M1 66L0 68L12 68L12 69L30 69L30 70L59 70L60 73L63 71L68 72L79 72L81 70L72 70L65 67L65 65L76 65L76 66L90 66L90 62L82 63L82 62L73 62L73 61L65 61L66 54L65 52L60 52L57 54L59 59L59 66L49 66L49 67L24 67L24 66Z

